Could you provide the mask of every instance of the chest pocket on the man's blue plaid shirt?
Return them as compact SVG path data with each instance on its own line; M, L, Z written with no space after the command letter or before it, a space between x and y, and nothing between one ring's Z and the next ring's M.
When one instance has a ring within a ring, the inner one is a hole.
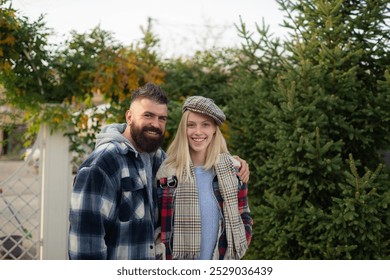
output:
M121 202L119 207L119 220L128 222L140 220L145 217L145 186L140 180L126 177L121 179Z

